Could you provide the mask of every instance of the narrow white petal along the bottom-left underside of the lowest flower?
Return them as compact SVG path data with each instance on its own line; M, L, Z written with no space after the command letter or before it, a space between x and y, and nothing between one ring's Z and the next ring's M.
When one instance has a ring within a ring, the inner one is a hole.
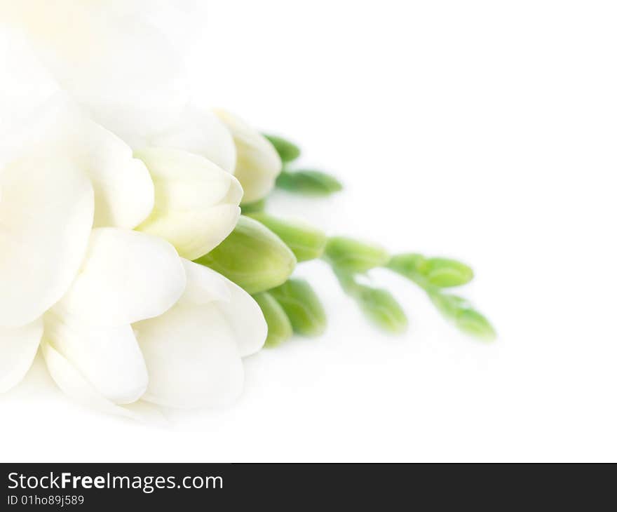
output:
M149 407L142 401L121 406L104 398L83 377L81 372L49 343L43 342L41 344L41 351L43 352L43 357L51 377L57 386L73 400L108 414L120 415L144 422L164 422L161 412L154 407Z

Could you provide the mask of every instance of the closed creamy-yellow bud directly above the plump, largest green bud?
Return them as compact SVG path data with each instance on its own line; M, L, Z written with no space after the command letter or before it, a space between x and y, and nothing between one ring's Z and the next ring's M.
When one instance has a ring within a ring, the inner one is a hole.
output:
M154 181L152 215L138 229L196 260L221 243L240 217L238 180L207 159L175 149L136 152Z

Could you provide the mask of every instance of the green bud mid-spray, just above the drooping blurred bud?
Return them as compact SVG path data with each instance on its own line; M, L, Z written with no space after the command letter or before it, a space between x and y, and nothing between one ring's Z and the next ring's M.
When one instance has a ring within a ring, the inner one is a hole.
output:
M344 236L333 236L328 239L325 257L337 269L351 273L383 267L390 260L388 252L379 245L371 245Z

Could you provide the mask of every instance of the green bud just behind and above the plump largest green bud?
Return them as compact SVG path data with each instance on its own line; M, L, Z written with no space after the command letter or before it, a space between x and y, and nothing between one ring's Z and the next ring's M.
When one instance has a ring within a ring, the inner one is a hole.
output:
M287 244L299 262L315 260L323 255L327 236L323 231L301 222L280 220L266 213L250 214Z

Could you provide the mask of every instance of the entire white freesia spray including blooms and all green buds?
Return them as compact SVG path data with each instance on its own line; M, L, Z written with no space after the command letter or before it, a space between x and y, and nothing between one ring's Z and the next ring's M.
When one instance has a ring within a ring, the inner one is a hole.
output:
M383 248L266 213L274 187L333 194L298 147L196 107L182 64L196 3L0 0L0 391L41 351L72 398L120 415L230 403L242 358L326 314L294 267L322 259L367 317L400 332L384 267L492 339L445 292L461 262ZM184 20L184 39L164 21Z

